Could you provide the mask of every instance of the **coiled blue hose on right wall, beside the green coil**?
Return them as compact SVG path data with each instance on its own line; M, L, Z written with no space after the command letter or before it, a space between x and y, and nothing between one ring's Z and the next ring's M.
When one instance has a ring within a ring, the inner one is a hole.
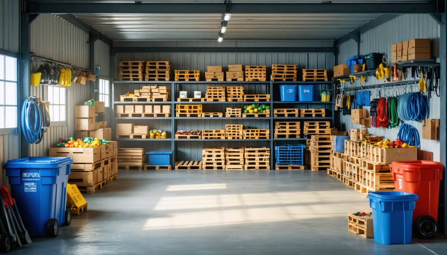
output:
M406 93L398 97L397 113L403 121L422 121L428 118L429 106L427 95Z

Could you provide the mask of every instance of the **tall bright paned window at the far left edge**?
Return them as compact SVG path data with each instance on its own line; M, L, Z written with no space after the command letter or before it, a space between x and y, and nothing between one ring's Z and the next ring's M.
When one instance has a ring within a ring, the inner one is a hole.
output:
M0 54L0 128L17 128L17 58Z

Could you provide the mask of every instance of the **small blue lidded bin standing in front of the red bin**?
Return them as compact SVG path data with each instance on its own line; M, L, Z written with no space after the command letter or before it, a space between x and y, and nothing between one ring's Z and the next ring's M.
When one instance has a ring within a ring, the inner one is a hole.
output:
M373 191L368 198L373 209L374 242L411 243L413 210L418 196L400 191Z

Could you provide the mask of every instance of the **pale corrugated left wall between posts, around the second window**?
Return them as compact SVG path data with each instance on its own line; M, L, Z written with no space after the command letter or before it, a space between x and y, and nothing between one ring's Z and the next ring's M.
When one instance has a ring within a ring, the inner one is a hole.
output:
M88 34L65 20L49 14L40 14L31 23L30 36L30 50L35 55L88 68ZM37 67L36 64L32 66ZM59 137L74 135L73 109L75 105L89 99L90 85L93 86L93 83L74 83L67 88L67 126L50 127L40 144L30 145L31 156L47 156L48 148L57 142ZM46 99L46 87L31 87L30 95Z

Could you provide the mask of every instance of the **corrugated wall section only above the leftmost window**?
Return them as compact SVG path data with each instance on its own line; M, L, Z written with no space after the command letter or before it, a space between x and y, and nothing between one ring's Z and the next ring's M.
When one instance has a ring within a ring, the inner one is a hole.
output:
M0 1L0 49L19 52L20 1Z

